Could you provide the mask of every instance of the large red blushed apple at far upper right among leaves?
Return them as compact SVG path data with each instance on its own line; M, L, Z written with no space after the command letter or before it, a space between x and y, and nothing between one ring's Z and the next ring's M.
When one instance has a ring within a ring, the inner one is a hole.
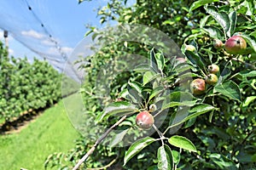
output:
M224 46L229 54L242 54L247 48L247 42L240 36L230 37Z

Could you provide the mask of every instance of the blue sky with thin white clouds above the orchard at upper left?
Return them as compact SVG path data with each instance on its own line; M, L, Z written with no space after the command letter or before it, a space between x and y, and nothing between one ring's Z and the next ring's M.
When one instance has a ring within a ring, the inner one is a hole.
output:
M0 2L0 10L2 11L0 12L0 17L2 18L0 27L7 27L7 30L13 31L9 33L9 51L11 55L32 58L33 56L38 56L38 54L32 53L32 50L17 42L15 38L11 37L12 33L17 35L21 32L23 36L26 35L26 37L33 38L34 42L30 43L34 44L42 45L49 42L44 40L44 43L42 43L42 37L47 37L47 33L44 35L44 31L39 30L40 23L37 22L31 11L27 9L26 3L32 7L32 11L42 21L50 35L59 43L62 50L70 54L73 48L83 39L84 33L88 31L85 27L86 25L100 26L100 19L99 17L96 18L96 8L106 5L108 1L92 0L91 2L85 1L80 4L78 0L19 0L19 3L12 2L8 0ZM1 41L3 41L3 31L1 31L0 37ZM22 39L23 42L30 40ZM37 48L37 46L32 47ZM53 54L56 53L55 49L49 50L52 50Z

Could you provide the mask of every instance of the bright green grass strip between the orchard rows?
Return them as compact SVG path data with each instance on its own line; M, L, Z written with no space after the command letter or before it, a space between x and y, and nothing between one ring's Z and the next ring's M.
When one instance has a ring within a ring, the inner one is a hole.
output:
M69 96L74 102L76 95ZM49 154L74 147L79 133L67 118L63 102L44 111L44 114L23 128L20 133L0 136L0 169L44 169Z

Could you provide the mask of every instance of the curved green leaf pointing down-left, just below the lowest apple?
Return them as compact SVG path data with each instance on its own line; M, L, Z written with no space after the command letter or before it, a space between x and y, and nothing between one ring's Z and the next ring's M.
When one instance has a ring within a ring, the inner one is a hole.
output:
M136 156L137 153L139 153L141 150L143 150L154 141L156 141L156 139L146 137L143 139L139 139L135 143L131 144L130 148L125 152L124 166L129 160L131 160L133 156Z

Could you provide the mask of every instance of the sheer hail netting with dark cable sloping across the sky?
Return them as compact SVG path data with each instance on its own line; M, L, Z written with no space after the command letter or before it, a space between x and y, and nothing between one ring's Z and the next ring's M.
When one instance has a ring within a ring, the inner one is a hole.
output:
M11 37L41 58L47 59L56 69L68 70L65 71L67 76L77 81L80 79L72 65L73 61L68 59L73 48L55 36L50 24L49 11L42 2L3 0L0 2L0 18L0 28L8 31Z

